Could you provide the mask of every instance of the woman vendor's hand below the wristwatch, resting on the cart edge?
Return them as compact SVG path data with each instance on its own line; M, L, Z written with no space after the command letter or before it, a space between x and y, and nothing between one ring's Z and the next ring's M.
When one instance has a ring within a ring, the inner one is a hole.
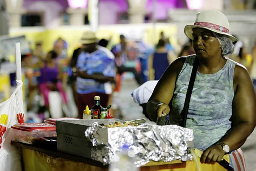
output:
M220 162L225 155L221 145L213 145L207 148L201 155L201 163Z

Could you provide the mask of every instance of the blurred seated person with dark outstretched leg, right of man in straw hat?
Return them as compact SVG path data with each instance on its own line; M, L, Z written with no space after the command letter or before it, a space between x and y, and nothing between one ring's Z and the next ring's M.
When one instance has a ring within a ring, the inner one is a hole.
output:
M125 67L125 62L127 60L127 42L124 35L120 35L120 43L113 46L111 51L115 55L115 62L118 74L123 74L124 72L131 72L135 76L135 80L139 85L143 84L140 74L133 67Z

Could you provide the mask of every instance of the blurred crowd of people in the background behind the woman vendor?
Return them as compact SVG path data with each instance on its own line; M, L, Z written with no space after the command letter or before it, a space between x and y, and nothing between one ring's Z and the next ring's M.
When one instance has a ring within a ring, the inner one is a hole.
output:
M112 105L111 113L115 118L121 118L122 113L118 106L118 93L120 91L124 73L131 73L138 86L148 80L159 80L170 63L177 57L194 54L192 40L182 46L173 46L165 36L160 33L157 45L148 45L142 40L129 42L124 35L120 35L118 44L113 45L111 39L98 40L95 33L85 32L80 39L80 46L74 50L72 56L67 55L68 43L59 38L52 46L52 50L44 52L42 44L36 42L35 49L30 55L22 56L22 67L25 69L27 79L27 108L40 115L50 112L49 94L58 92L62 101L63 116L70 116L67 103L67 87L72 90L72 101L78 108L76 117L82 118L83 111L88 105L93 106L93 97L100 96L101 106ZM256 45L251 50L245 48L240 40L234 42L235 51L227 56L243 64L249 71L254 86L256 84ZM251 51L251 53L248 53ZM64 61L64 62L63 62ZM135 61L127 65L127 61ZM66 64L65 64L66 63ZM43 103L35 104L35 96L41 97ZM51 100L52 101L52 100ZM54 108L54 107L52 107Z

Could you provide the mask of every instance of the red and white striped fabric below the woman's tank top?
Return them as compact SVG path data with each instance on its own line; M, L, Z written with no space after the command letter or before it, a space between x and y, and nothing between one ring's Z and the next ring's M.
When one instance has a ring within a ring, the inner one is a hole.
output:
M243 151L239 148L229 154L230 162L229 165L234 168L234 170L246 170L245 157Z

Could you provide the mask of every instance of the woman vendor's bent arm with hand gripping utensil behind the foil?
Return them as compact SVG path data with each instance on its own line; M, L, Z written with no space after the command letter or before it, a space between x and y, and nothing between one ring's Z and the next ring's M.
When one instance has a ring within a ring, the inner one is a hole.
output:
M157 121L158 116L161 116L162 113L167 114L170 112L167 106L172 99L176 78L185 60L186 57L181 57L169 65L148 100L147 113L154 122ZM164 103L164 105L157 106L159 102Z

